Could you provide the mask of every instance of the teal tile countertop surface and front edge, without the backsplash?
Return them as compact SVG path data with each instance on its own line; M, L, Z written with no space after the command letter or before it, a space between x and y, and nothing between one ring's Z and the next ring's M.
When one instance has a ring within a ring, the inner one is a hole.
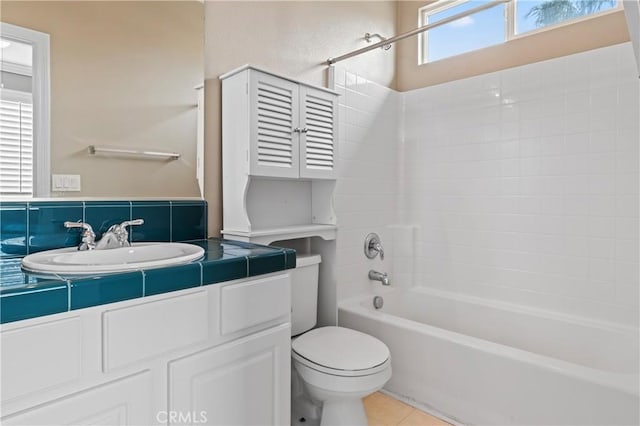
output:
M191 241L204 248L195 262L88 277L42 277L24 272L20 258L0 260L0 323L295 268L296 252L240 241Z

